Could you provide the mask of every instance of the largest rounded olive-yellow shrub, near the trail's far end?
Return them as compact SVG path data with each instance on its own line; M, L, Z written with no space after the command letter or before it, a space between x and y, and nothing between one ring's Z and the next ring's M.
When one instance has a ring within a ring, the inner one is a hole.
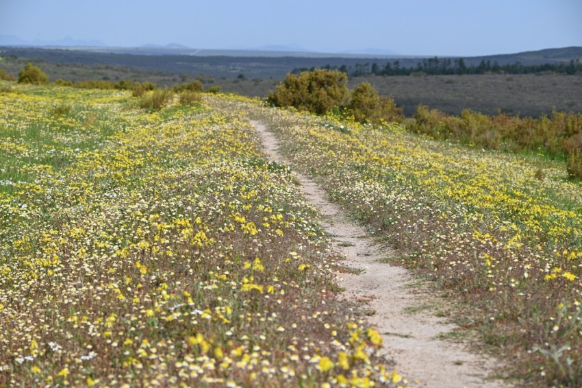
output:
M267 101L275 106L293 106L316 114L325 114L349 100L348 76L338 70L315 69L299 75L288 73L270 92Z

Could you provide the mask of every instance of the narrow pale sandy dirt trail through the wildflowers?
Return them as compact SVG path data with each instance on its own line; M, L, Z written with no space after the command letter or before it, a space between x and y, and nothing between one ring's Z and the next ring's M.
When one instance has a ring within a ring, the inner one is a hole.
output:
M286 162L275 135L258 121L252 121L262 137L264 150L273 160ZM307 199L316 206L323 226L333 237L333 249L346 257L347 267L361 274L338 274L346 289L345 298L366 303L369 322L382 334L384 354L396 362L398 372L413 387L505 387L498 380L485 380L494 361L468 352L462 344L437 339L455 328L426 306L435 302L422 285L414 284L406 269L379 259L393 255L389 247L376 244L366 230L351 221L344 211L326 199L325 191L313 180L296 174Z

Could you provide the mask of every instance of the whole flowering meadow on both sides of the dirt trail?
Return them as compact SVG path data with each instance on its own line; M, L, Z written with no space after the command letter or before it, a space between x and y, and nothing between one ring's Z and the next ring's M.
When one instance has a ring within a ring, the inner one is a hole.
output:
M244 97L158 111L127 91L4 90L0 385L405 383L249 119L431 280L502 374L582 383L582 184L564 162Z

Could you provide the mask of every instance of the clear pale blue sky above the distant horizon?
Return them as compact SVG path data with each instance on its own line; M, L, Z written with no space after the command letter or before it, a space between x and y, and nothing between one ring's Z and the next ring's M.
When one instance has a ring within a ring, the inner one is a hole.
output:
M582 46L582 0L0 0L0 35L479 56Z

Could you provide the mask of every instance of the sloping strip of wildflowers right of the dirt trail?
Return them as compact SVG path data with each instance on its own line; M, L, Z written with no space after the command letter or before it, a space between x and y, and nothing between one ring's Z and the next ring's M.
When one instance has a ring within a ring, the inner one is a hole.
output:
M460 331L478 332L511 374L582 383L582 184L564 162L246 109L277 132L294 168L398 248L398 263L455 297Z

